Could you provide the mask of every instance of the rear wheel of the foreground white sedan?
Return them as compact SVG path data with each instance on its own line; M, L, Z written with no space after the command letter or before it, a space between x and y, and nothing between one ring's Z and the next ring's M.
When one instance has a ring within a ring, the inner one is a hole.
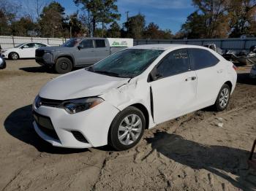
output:
M217 112L222 112L227 108L227 105L230 102L230 87L228 85L222 85L222 88L219 90L217 100L214 104L214 109Z

